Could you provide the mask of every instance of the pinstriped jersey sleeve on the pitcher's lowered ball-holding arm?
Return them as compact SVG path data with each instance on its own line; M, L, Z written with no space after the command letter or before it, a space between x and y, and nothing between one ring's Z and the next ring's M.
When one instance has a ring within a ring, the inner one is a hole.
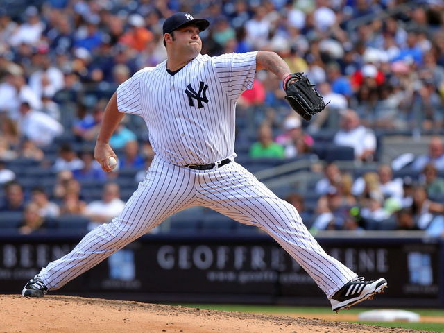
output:
M142 115L142 77L147 69L137 71L117 88L119 112Z

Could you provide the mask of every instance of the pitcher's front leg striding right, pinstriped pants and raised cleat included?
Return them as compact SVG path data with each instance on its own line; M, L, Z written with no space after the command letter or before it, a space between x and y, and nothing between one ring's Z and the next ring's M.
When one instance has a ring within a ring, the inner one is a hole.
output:
M241 223L256 225L273 237L324 291L334 311L355 305L386 287L384 279L363 281L327 255L296 208L275 196L239 164L232 162L203 174L200 187L203 205Z

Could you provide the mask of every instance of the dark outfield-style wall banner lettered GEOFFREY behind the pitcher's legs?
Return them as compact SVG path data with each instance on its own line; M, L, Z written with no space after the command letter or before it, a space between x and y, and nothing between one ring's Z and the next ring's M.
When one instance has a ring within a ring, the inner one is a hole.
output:
M1 239L0 292L19 293L26 280L68 253L77 241L75 237ZM318 241L359 275L386 278L388 289L378 302L443 305L443 244L438 239ZM142 237L61 289L70 291L85 296L88 292L135 293L136 298L156 294L156 300L169 301L187 295L190 302L254 296L264 302L317 299L325 303L314 280L268 237Z

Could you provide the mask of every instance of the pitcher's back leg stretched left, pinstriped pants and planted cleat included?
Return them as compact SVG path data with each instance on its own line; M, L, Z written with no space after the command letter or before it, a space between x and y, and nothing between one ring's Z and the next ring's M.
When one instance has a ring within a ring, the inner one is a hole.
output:
M192 173L167 162L153 162L146 178L140 182L139 188L128 200L120 216L110 223L99 225L86 234L70 253L42 268L38 274L41 284L49 290L59 289L112 253L146 234L172 214L194 203ZM32 283L33 280L26 284L24 296L41 297L46 293L34 292L28 287L30 284L32 287ZM41 287L41 284L36 281L35 287Z

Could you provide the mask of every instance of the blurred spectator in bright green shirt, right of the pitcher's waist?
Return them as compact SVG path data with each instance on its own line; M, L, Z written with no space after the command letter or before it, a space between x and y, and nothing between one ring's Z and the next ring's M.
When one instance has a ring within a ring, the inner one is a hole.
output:
M250 157L284 158L284 147L273 142L273 133L268 123L258 129L258 141L250 147Z

